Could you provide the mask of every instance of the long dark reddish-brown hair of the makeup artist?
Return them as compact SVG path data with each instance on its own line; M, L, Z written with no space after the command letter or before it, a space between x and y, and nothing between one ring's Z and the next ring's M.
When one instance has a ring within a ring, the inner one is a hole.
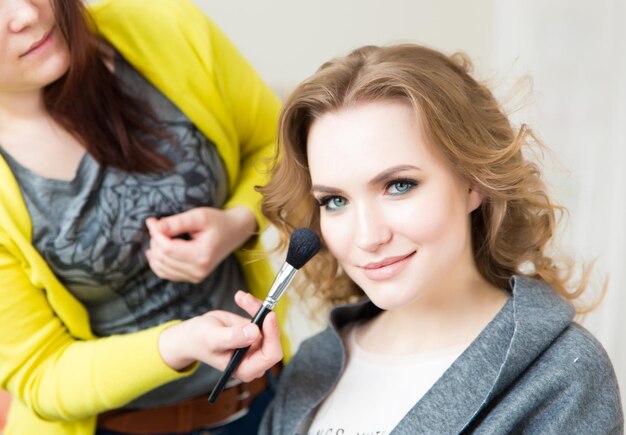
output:
M164 136L157 129L156 117L145 104L123 91L104 64L82 2L51 1L69 47L70 66L44 88L44 105L50 115L102 165L132 172L171 167L170 161L148 143L151 137Z

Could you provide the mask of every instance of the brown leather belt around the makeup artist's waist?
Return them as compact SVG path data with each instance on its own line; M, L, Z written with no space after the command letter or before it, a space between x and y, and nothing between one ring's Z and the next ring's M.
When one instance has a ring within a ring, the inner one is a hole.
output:
M265 376L225 388L215 403L209 403L207 394L159 408L108 411L98 416L98 428L148 435L221 426L245 415L252 400L269 386L268 376L277 377L280 369L281 365L276 364Z

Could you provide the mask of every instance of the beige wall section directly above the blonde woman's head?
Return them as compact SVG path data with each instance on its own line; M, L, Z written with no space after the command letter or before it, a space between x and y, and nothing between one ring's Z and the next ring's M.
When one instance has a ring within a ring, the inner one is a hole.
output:
M490 62L492 0L196 0L279 95L365 44L463 48Z

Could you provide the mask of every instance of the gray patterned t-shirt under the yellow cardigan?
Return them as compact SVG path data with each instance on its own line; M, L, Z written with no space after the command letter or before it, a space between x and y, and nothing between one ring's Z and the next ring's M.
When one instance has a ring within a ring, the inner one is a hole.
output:
M171 171L134 174L100 166L85 154L71 181L34 174L0 147L13 170L33 223L33 244L60 281L89 312L98 336L187 319L211 309L238 311L233 294L245 289L233 255L200 284L158 278L145 257L145 220L199 206L221 207L228 180L211 143L161 92L120 56L116 76L125 89L153 108L175 138L154 146L174 164ZM120 358L132 358L120 355ZM173 403L210 391L219 372L201 366L131 406Z

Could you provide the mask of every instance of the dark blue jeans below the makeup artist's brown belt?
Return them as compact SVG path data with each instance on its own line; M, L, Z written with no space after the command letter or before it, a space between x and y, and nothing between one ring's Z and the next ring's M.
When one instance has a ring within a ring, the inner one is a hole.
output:
M243 417L232 421L223 426L214 427L211 429L198 429L185 434L158 434L158 435L256 435L263 418L265 409L270 404L274 395L276 394L276 380L270 380L270 386L254 398L250 404L248 413ZM113 432L110 430L98 429L96 435L124 435L120 432ZM157 435L157 434L155 434Z

